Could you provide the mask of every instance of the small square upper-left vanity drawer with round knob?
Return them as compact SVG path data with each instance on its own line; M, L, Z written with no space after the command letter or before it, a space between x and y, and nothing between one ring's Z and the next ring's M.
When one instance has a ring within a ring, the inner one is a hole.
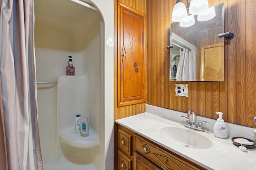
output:
M118 129L118 146L132 156L132 135Z

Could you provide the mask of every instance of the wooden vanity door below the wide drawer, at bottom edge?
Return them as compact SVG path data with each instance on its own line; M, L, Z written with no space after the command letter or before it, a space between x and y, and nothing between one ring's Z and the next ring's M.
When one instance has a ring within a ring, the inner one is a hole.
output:
M141 156L138 152L134 152L134 170L162 170L154 165L148 159Z

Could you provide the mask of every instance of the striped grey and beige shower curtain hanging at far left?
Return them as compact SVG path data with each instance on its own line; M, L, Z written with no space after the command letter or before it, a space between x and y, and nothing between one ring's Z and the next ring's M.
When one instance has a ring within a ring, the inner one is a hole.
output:
M42 170L33 0L0 0L0 170Z

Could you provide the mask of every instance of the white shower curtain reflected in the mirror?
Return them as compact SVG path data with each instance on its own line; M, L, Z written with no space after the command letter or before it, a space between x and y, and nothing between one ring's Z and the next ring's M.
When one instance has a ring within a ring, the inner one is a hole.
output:
M195 60L193 52L180 49L180 61L178 63L176 80L194 80L196 78Z

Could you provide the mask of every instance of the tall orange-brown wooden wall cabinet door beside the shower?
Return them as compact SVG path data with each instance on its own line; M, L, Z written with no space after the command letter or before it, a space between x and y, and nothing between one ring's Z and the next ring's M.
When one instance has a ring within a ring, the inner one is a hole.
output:
M146 16L118 2L118 106L146 102Z

